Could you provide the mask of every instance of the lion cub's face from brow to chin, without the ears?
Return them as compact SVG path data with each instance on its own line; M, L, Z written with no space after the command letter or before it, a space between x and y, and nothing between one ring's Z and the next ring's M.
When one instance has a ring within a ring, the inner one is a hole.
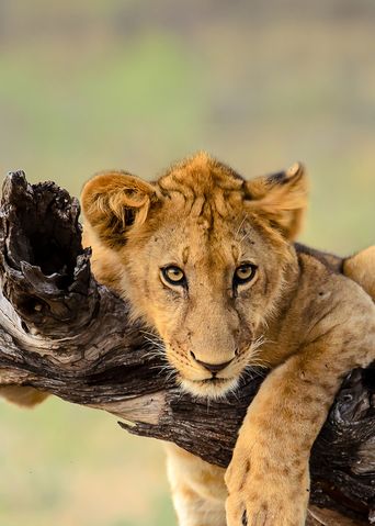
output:
M211 200L195 214L173 201L143 244L129 239L123 290L156 327L181 384L218 396L261 362L257 338L283 262L243 214L221 217Z

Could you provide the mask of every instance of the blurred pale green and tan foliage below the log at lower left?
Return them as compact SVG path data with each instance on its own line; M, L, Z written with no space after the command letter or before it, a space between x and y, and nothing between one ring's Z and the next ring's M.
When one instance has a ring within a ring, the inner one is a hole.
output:
M57 399L31 411L0 403L1 525L173 524L155 440Z

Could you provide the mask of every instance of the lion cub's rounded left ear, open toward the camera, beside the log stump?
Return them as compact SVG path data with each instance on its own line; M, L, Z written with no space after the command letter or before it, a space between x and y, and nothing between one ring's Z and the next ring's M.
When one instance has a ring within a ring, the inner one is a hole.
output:
M110 248L121 248L129 231L145 222L154 199L152 184L122 171L99 174L81 193L86 221Z

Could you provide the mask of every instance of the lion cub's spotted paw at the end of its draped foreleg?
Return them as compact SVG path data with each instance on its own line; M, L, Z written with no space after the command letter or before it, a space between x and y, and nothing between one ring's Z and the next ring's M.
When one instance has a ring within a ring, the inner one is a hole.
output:
M309 495L308 468L291 472L266 457L235 449L226 473L228 526L304 526ZM277 468L277 469L276 469ZM303 471L303 472L302 472Z

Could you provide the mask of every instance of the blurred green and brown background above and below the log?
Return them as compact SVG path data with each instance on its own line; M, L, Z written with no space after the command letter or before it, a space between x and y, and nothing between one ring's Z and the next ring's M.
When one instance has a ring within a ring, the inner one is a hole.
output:
M373 0L0 0L0 169L78 194L207 149L252 177L303 160L302 239L374 244ZM0 402L1 526L174 524L162 447L114 417Z

